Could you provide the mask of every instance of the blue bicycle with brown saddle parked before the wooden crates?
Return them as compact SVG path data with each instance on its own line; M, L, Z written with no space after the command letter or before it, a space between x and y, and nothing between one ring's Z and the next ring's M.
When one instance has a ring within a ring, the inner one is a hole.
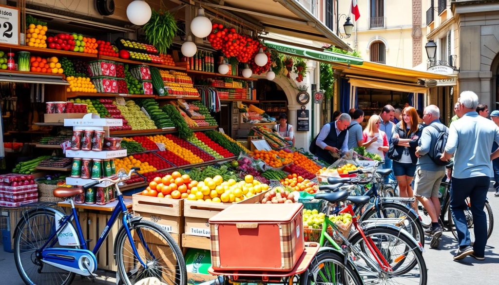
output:
M139 168L132 168L127 174L121 169L115 177L102 178L83 187L56 188L54 196L66 198L71 204L69 215L48 206L24 213L14 232L14 260L26 285L69 285L76 274L93 280L97 270L95 257L120 214L122 226L114 241L117 284L133 285L144 278L155 277L163 283L187 285L185 261L179 246L156 224L132 217L123 202L119 186L137 170ZM90 251L73 197L105 181L114 184L118 202Z

